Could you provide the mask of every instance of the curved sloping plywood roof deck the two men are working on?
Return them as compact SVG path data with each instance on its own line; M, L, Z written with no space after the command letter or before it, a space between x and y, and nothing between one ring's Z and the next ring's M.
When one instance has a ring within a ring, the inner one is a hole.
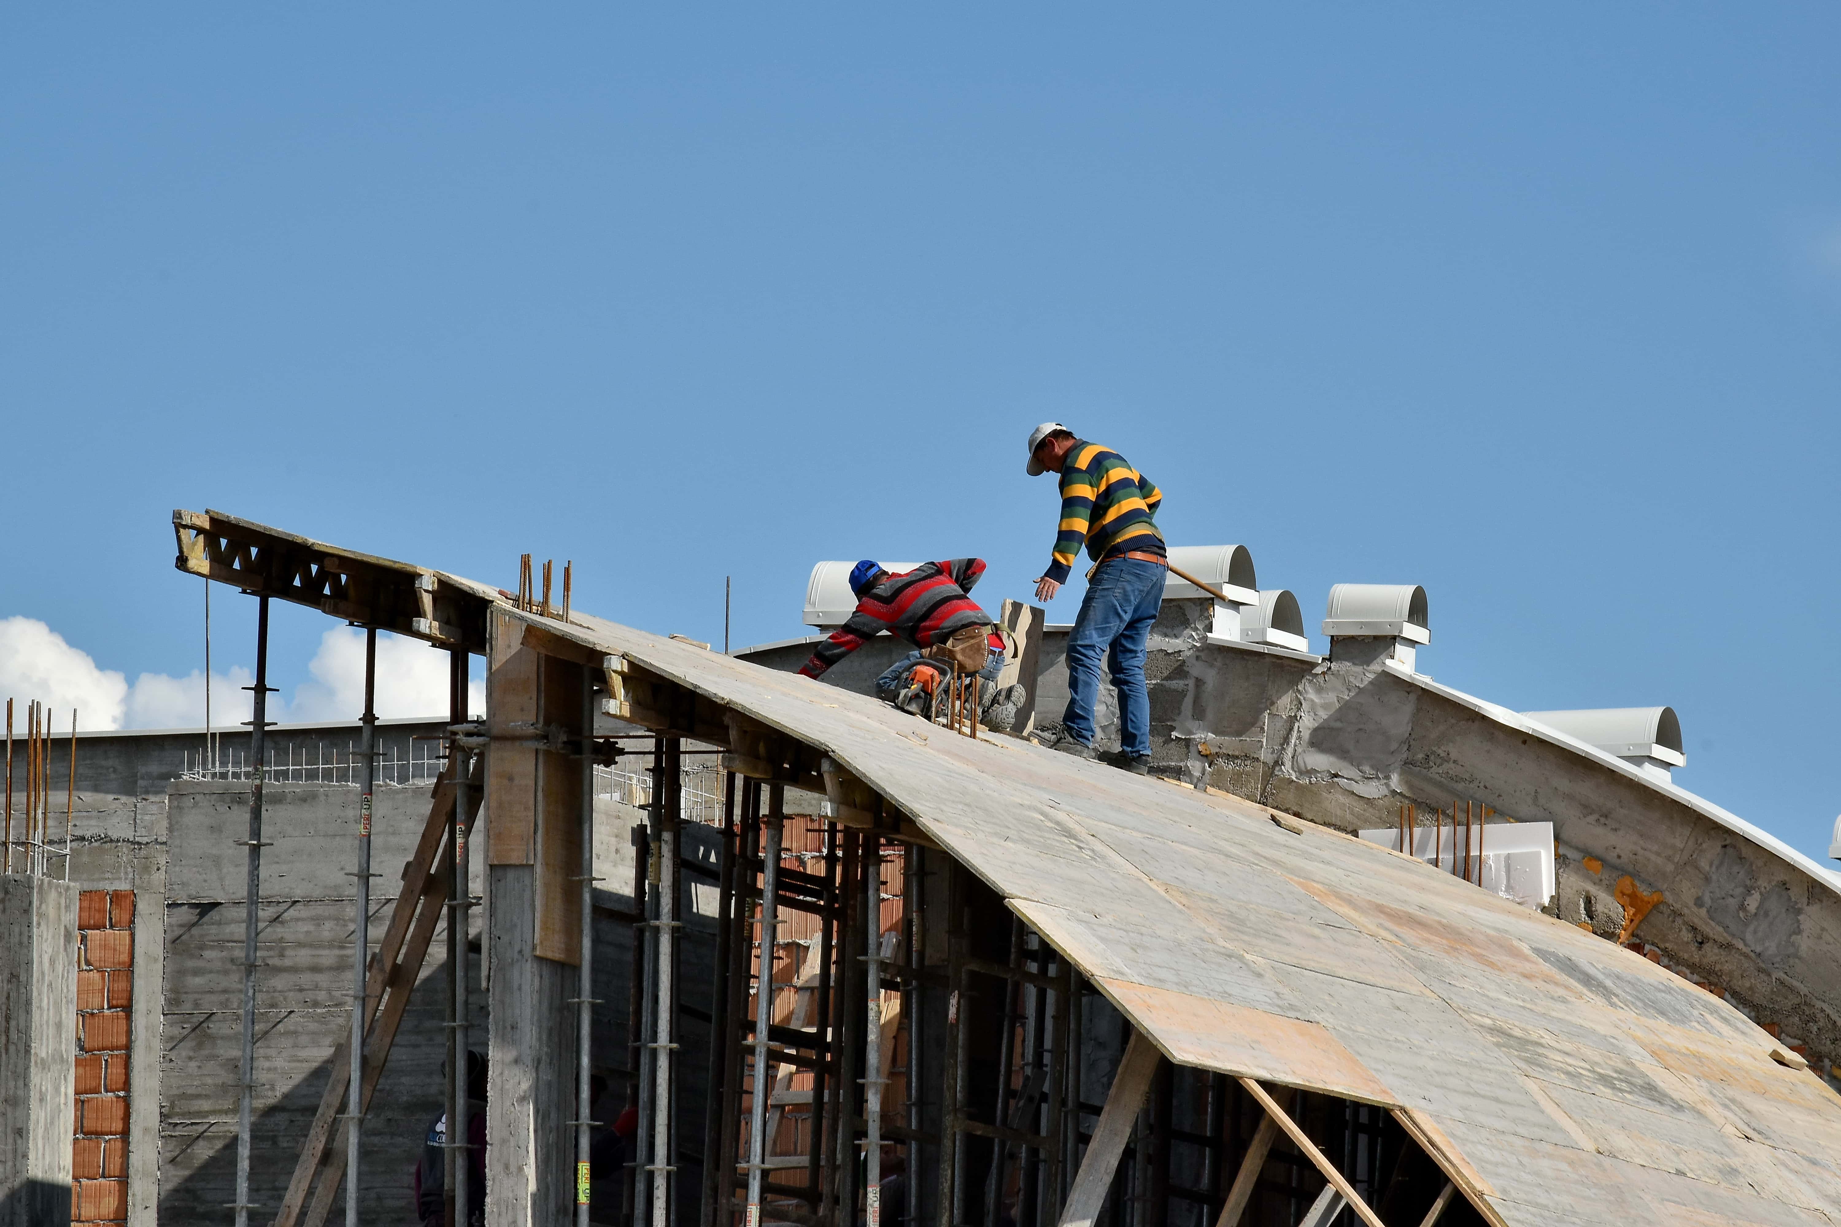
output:
M1837 1227L1841 1098L1648 960L1237 798L578 622L545 625L867 782L1173 1060L1401 1106L1493 1221Z

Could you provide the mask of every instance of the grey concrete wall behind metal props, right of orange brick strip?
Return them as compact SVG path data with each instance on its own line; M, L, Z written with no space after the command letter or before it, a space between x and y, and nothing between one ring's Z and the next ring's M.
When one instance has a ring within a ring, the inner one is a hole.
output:
M352 877L357 798L346 786L271 784L263 802L250 1198L276 1207L352 1019ZM381 940L401 866L429 813L427 787L374 797L370 935ZM171 786L166 900L166 1032L160 1058L160 1221L214 1221L234 1201L243 993L249 786ZM475 890L479 887L475 885ZM477 911L473 931L479 933ZM365 1122L361 1212L414 1221L412 1179L446 1091L447 935L438 927ZM486 1010L473 958L473 1043ZM344 1221L344 1199L331 1223Z

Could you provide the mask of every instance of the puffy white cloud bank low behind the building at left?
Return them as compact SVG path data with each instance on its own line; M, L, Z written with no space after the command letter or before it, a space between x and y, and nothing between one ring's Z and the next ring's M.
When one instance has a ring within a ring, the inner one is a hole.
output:
M272 721L348 721L365 710L365 633L333 627L307 662L311 681L295 688L293 701L269 695ZM250 670L212 670L212 727L234 730L250 717ZM39 699L53 712L77 708L79 728L199 728L204 725L204 675L140 673L129 686L116 670L103 670L81 648L35 618L0 618L0 699L13 695L15 728L24 727L26 703ZM486 688L468 681L468 712L486 710ZM447 653L412 638L377 635L377 716L447 716ZM55 721L53 721L55 723Z

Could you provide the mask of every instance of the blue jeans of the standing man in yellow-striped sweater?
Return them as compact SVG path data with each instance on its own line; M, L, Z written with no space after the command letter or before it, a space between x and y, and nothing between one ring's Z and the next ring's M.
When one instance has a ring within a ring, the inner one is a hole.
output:
M1145 690L1145 642L1164 605L1165 568L1119 557L1094 572L1081 616L1068 636L1068 710L1060 727L1083 745L1094 743L1099 662L1119 692L1119 743L1132 758L1151 754L1151 695Z

